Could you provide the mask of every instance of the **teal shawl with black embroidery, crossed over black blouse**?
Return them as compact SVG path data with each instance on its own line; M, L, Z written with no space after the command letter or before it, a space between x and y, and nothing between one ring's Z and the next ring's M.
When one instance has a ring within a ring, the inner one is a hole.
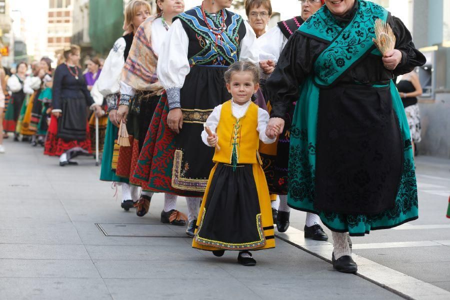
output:
M319 87L337 82L366 54L381 55L372 41L374 24L377 18L386 21L388 11L370 1L358 0L358 4L353 19L344 26L324 5L298 28L302 34L329 43L314 63L314 82Z

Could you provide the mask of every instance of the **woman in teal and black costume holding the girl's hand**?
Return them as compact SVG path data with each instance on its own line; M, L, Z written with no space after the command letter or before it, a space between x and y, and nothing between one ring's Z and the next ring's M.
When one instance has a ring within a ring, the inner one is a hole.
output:
M384 56L374 20L396 36ZM317 213L333 231L333 267L355 272L348 241L416 219L417 186L408 124L394 75L424 64L398 18L365 0L325 0L287 42L267 80L268 129L291 127L288 204ZM299 87L301 84L301 87Z

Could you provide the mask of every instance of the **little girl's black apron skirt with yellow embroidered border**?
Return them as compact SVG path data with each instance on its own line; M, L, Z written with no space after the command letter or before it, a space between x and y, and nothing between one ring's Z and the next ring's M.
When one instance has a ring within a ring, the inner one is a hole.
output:
M218 163L195 241L226 250L261 247L265 237L252 165Z

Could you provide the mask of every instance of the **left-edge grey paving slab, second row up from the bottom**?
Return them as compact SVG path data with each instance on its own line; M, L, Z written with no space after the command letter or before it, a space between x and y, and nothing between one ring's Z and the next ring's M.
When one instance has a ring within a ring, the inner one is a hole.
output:
M100 274L90 259L0 259L0 277L100 278Z

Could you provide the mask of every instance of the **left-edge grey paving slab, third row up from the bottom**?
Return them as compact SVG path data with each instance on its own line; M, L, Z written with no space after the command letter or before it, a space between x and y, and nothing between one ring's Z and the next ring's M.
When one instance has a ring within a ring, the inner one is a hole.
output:
M0 258L90 259L83 245L0 244Z

